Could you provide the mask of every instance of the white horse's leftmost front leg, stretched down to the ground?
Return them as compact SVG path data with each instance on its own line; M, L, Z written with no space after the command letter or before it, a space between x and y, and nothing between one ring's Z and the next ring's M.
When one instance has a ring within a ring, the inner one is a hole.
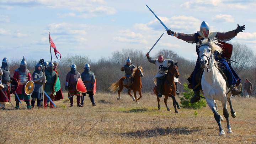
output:
M219 132L220 132L219 135L222 135L222 136L225 137L226 134L225 134L225 132L224 132L224 130L222 128L222 125L220 123L221 117L220 117L218 111L216 110L216 107L214 105L214 101L213 100L209 100L208 98L206 98L206 102L207 102L208 106L210 107L210 109L212 110L212 112L214 114L215 121L218 123Z

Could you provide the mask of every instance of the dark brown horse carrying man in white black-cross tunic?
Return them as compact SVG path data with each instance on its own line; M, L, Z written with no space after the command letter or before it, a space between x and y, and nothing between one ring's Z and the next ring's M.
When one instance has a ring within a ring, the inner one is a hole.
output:
M176 62L175 64L172 63L169 66L169 68L167 68L169 70L168 70L168 72L166 74L166 80L165 80L164 84L162 85L164 87L164 90L165 90L164 102L165 102L165 106L167 108L167 111L170 111L170 109L167 106L167 100L168 100L168 97L171 97L172 101L173 101L173 106L174 106L174 109L175 109L176 113L178 113L178 111L176 109L176 105L177 105L177 108L180 109L180 106L178 105L178 102L175 99L175 96L176 96L176 93L175 93L176 92L176 85L174 83L174 76L176 78L178 78L178 76L179 76L177 64L178 64L178 62ZM156 86L154 88L154 91L155 91L155 95L157 97L158 91L156 89ZM157 97L157 100L158 100L158 110L160 110L160 104L159 104L160 98Z

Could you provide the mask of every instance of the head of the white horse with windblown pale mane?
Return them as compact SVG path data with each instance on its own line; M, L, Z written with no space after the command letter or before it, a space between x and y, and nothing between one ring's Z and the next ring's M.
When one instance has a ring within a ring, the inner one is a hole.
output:
M201 41L201 39L199 39L199 57L200 57L200 64L201 64L201 68L208 68L208 65L212 62L214 62L213 59L213 53L215 51L222 53L222 48L218 46L218 40L217 39L213 39L213 41L211 41L209 38L208 39L204 39L203 41Z

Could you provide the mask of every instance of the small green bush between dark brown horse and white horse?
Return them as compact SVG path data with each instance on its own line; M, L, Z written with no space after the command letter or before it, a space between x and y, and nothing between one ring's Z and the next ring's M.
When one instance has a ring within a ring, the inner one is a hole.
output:
M184 90L187 91L187 92L181 93L184 95L183 97L178 96L181 100L180 103L181 103L182 107L193 108L193 109L206 107L206 100L204 100L203 98L201 98L200 101L198 101L198 102L190 103L190 100L193 97L194 92L193 92L193 90L188 89L188 85L186 82L182 85L184 86Z

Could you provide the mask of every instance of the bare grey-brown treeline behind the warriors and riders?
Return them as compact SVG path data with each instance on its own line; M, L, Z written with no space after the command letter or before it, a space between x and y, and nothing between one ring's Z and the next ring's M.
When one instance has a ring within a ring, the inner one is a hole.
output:
M172 59L175 62L178 62L178 71L180 74L179 81L181 84L187 82L187 78L190 76L194 70L195 60L188 60L181 57L172 50L161 49L155 55L150 55L153 59L157 59L158 55L163 55L166 59ZM84 71L84 66L88 63L91 66L91 71L94 72L97 79L97 91L98 92L109 92L108 87L111 83L118 81L125 74L120 71L121 67L126 64L126 60L129 57L132 60L132 64L135 66L142 66L144 71L144 77L142 78L142 91L151 92L154 87L154 82L152 78L156 75L156 66L148 62L145 57L145 53L142 50L134 49L123 49L121 51L117 50L112 53L108 58L102 57L97 61L92 60L93 56L89 57L87 55L79 54L69 54L66 57L62 58L61 61L58 61L57 71L59 73L60 82L62 84L62 89L64 90L64 83L66 80L66 74L70 71L70 66L75 63L77 70L81 74ZM26 58L25 58L26 59ZM41 58L40 58L41 59ZM35 70L35 65L39 60L27 60L27 68L32 73ZM235 43L233 46L233 60L236 60L238 64L231 62L235 71L242 79L242 84L244 85L245 78L248 78L252 84L255 85L255 54L250 48L247 48L244 45ZM15 62L10 63L10 73L11 76L14 74L14 70L19 68L21 60L15 60ZM188 83L188 82L187 82ZM183 86L178 84L179 91L183 91Z

